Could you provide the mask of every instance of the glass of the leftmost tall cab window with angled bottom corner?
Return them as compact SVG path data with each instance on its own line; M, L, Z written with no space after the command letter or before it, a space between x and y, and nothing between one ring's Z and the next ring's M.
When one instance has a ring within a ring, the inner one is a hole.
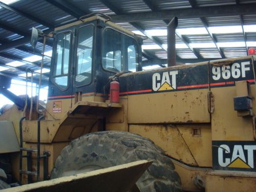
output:
M61 89L68 87L69 56L70 56L70 32L57 34L56 57L53 70L53 81Z

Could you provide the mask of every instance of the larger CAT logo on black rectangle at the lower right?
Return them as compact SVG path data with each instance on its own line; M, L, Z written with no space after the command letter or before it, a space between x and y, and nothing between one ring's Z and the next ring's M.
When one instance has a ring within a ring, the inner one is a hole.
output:
M218 142L214 143L214 142ZM255 170L256 143L250 141L213 141L213 163L216 169Z

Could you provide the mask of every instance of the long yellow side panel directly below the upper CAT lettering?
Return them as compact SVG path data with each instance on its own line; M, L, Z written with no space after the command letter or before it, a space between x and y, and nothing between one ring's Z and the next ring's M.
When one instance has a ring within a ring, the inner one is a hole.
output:
M208 91L208 89L199 89L190 91L130 95L128 96L128 122L210 122L210 115L207 113Z

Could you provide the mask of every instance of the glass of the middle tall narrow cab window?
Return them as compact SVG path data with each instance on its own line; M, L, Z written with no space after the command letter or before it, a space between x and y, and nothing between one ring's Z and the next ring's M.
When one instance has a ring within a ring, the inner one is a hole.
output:
M77 87L89 84L92 79L93 32L93 25L78 29L75 79Z

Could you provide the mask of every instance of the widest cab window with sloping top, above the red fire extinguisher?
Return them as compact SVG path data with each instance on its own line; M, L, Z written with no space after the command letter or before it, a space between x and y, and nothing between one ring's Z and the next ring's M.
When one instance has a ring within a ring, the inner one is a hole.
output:
M103 32L102 66L104 69L138 71L138 48L134 38L111 28Z

